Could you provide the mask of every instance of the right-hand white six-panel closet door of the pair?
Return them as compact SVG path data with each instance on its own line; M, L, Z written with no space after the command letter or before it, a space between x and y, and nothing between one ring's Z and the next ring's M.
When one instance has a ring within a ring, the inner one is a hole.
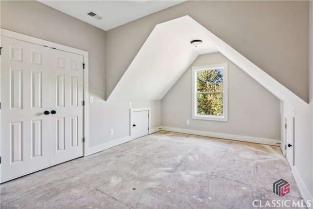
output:
M83 156L83 56L52 52L50 165Z

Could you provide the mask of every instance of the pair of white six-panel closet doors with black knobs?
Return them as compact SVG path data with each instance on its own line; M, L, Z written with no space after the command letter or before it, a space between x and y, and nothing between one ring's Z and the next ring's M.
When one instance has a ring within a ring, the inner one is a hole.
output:
M1 182L83 156L83 56L1 44Z

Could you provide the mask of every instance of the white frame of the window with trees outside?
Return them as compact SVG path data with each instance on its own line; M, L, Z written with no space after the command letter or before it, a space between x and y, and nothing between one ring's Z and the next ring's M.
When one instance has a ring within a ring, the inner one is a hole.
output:
M192 68L192 119L200 120L217 120L217 121L228 121L228 72L227 63L198 66ZM212 115L198 115L198 76L197 72L205 70L224 70L224 92L223 92L223 116L212 116Z

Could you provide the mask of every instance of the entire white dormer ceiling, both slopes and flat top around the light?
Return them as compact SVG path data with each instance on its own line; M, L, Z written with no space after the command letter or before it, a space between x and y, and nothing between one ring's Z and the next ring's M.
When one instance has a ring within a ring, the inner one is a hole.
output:
M107 101L160 100L199 55L218 51L278 99L306 103L189 16L156 25Z

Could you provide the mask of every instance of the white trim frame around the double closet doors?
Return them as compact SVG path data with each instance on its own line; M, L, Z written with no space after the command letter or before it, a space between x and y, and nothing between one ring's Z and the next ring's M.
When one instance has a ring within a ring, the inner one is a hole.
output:
M27 36L22 33L13 32L0 28L0 35L3 37L20 40L23 42L28 42L31 44L36 44L40 46L47 46L50 48L55 48L57 50L66 51L73 54L82 55L84 58L85 69L84 69L84 101L83 106L83 137L85 138L85 143L83 142L83 156L89 155L89 52L83 51L81 49L73 48L70 46L64 46L61 44L53 43L43 39L35 38L32 36ZM1 130L0 130L1 131ZM1 132L0 132L1 133Z

